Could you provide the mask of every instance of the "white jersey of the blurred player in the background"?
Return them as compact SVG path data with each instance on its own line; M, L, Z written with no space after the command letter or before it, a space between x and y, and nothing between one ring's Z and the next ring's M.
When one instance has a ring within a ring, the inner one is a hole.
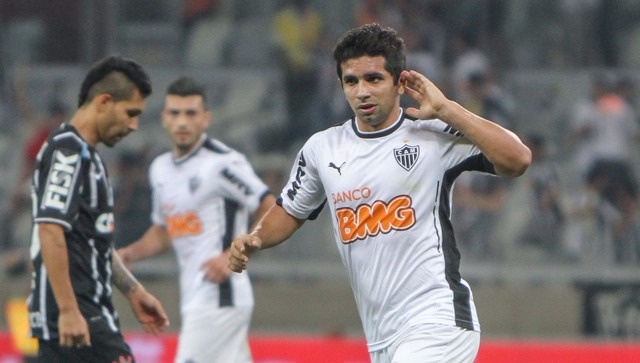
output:
M250 215L270 193L246 157L203 135L181 158L159 155L149 169L152 222L171 237L180 267L180 310L225 306L253 307L249 276L231 274L216 284L205 278L204 261L247 233Z

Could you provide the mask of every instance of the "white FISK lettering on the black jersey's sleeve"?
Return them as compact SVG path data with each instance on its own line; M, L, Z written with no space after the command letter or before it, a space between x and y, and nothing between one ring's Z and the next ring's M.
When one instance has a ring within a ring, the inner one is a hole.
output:
M53 154L53 165L44 191L45 208L64 211L67 209L71 185L78 169L80 155L65 155L61 151Z

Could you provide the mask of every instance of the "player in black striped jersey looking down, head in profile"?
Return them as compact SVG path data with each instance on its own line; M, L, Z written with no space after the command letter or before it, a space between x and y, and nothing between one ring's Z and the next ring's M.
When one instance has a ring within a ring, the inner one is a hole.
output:
M112 283L147 331L168 324L160 303L113 253L113 192L95 149L137 129L149 94L149 78L134 61L112 56L95 63L76 113L38 154L29 322L39 361L133 361L119 330Z

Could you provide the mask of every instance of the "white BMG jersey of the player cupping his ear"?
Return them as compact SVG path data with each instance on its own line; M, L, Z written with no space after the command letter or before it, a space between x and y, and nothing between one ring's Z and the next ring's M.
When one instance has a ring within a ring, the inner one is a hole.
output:
M349 120L298 153L278 203L301 219L328 204L370 351L416 324L480 329L450 219L465 170L495 174L446 123L402 114L370 133Z

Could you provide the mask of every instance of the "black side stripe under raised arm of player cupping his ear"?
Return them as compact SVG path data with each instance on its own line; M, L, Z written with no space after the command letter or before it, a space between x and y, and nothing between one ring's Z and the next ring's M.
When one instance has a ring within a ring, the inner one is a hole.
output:
M460 328L473 330L473 316L471 314L471 292L463 285L460 276L460 251L451 224L451 209L449 196L453 182L465 170L477 170L495 173L493 164L482 155L474 155L460 164L447 170L440 190L439 217L442 229L442 253L445 261L445 276L451 291L453 291L453 305L456 325Z

